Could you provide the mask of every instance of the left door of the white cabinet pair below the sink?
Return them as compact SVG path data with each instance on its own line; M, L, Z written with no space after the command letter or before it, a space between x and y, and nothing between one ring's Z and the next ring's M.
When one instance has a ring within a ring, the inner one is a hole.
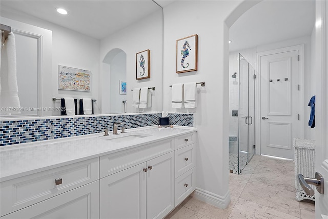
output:
M146 163L100 180L100 218L146 218Z

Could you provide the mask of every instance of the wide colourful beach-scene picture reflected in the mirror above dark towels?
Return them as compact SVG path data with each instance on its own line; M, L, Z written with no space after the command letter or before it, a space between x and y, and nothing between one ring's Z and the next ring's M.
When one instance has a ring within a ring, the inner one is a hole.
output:
M58 66L58 89L90 91L91 72L88 70Z

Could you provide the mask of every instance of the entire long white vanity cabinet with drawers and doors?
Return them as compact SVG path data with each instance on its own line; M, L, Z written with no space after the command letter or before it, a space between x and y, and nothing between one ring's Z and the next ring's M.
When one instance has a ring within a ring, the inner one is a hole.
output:
M0 217L163 218L195 190L196 131L172 131L117 151L94 138L101 150L90 158L2 176Z

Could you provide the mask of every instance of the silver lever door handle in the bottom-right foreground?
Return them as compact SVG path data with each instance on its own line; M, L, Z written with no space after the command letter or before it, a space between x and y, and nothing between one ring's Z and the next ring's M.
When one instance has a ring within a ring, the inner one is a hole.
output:
M306 192L306 194L308 194L310 196L314 195L314 190L309 186L309 184L315 185L317 191L320 194L324 193L323 176L318 172L316 172L315 178L308 178L308 177L304 177L302 174L298 174L298 182L301 185L301 187L303 188L303 190Z

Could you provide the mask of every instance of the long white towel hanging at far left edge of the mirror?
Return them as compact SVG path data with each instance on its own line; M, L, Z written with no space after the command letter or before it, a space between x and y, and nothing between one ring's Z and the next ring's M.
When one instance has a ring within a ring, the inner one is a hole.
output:
M0 59L0 106L17 109L11 111L1 111L0 113L20 114L20 102L18 98L16 75L16 46L15 36L13 33L8 34L5 45L1 50Z

